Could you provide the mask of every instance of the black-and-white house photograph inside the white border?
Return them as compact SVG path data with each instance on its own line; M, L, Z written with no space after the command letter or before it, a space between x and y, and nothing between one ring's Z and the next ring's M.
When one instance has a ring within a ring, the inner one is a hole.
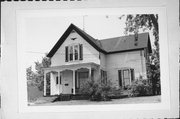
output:
M158 14L26 20L28 105L161 102Z

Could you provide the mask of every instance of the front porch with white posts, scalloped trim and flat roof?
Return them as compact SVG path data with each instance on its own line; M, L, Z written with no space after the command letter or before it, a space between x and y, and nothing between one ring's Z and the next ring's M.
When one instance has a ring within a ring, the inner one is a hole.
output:
M83 83L88 79L96 79L100 74L100 66L95 63L82 63L54 66L44 69L44 96L60 94L78 94ZM47 82L48 79L50 82ZM47 94L47 84L49 94Z

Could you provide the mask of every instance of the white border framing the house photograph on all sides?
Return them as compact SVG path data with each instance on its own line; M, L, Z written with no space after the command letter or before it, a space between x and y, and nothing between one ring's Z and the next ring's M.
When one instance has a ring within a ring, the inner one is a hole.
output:
M119 14L158 14L160 44L161 103L153 104L116 104L116 105L66 105L66 106L28 106L25 68L24 39L25 19L29 17L51 17L71 15L119 15ZM17 61L18 61L18 101L19 112L83 112L83 111L133 111L133 110L169 110L169 50L167 40L167 16L165 7L126 7L126 8L89 8L89 9L53 9L53 10L17 10ZM162 40L163 39L163 40ZM168 65L167 65L168 64ZM78 109L78 110L77 110Z

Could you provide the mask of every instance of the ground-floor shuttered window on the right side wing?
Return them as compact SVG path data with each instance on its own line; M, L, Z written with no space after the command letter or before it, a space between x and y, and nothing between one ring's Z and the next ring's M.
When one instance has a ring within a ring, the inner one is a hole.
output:
M118 71L119 76L119 86L125 88L128 85L131 85L131 82L134 80L134 69L123 69Z

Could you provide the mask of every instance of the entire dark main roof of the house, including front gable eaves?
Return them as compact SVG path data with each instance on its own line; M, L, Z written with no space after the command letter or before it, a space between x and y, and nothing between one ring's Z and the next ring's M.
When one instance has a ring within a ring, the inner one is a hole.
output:
M80 28L78 28L77 26L75 26L74 24L71 24L61 36L61 38L58 40L58 42L54 45L54 47L51 49L51 51L48 53L47 57L52 57L56 53L56 51L63 44L63 42L66 40L72 30L75 30L96 50L105 54L133 51L143 48L148 48L148 51L150 53L152 52L149 33L138 34L138 40L136 41L134 35L97 40L83 30L81 30Z

